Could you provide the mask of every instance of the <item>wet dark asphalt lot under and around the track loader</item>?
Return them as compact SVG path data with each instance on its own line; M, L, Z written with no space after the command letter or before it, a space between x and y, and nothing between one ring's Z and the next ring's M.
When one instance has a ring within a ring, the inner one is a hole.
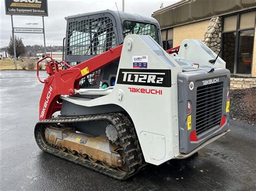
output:
M0 71L1 190L256 189L256 127L231 132L185 160L147 165L126 181L42 152L33 137L43 84L36 72Z

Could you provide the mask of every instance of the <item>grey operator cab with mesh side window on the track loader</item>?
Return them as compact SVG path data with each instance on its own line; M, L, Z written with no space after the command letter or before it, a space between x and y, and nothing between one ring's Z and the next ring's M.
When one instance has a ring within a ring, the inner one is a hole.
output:
M71 66L88 60L123 43L128 34L151 36L162 45L156 19L121 11L98 11L65 18L66 37L64 61ZM119 60L87 75L80 81L82 88L114 86Z

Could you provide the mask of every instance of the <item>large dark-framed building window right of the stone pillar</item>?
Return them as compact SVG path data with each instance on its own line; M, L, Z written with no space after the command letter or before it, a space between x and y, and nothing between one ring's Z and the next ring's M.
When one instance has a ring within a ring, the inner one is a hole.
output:
M255 11L224 18L223 60L233 74L251 74Z

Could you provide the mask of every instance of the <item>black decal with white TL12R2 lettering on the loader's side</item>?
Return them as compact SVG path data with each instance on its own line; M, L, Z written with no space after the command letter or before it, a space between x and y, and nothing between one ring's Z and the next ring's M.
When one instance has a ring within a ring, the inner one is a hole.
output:
M171 87L170 69L119 69L117 83Z

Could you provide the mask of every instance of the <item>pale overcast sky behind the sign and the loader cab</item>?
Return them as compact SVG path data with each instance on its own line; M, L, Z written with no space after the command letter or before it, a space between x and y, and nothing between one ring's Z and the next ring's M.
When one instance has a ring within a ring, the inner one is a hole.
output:
M48 17L44 17L46 46L62 45L62 39L65 37L66 20L64 17L101 10L116 10L116 4L119 11L122 10L122 0L48 0ZM151 14L160 8L161 3L164 6L178 2L178 0L125 0L125 12L137 13L144 16ZM11 16L5 15L4 0L0 0L1 6L1 40L0 47L8 46L11 36ZM36 27L42 27L42 17L32 16L14 16L14 27L35 27L28 23L38 23ZM16 33L22 37L24 45L43 45L43 34L22 34Z

